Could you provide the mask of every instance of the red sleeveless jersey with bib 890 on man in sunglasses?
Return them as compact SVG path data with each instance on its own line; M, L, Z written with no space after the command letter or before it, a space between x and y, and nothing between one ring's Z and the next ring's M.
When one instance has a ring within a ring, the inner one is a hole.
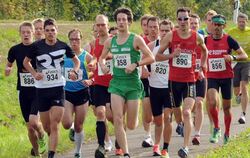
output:
M176 82L195 82L195 60L197 47L197 33L192 31L187 39L179 37L177 30L173 31L173 39L170 44L170 51L174 52L179 46L181 54L169 60L169 80Z

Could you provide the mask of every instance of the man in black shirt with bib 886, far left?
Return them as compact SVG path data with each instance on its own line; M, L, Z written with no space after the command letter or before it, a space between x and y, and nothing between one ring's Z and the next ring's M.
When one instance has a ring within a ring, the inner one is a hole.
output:
M19 31L22 43L10 48L5 75L10 75L13 63L16 61L18 97L22 115L27 125L28 136L32 144L31 155L38 156L39 152L43 153L46 150L45 133L37 115L35 79L23 67L23 60L32 48L33 30L33 25L29 22L23 22L20 25ZM32 65L34 65L34 63L32 63Z

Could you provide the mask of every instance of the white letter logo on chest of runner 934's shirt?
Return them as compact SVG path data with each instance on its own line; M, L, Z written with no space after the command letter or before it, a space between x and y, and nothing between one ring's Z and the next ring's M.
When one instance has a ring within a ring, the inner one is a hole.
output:
M43 67L47 69L60 68L60 63L63 61L63 55L65 52L65 49L57 50L50 52L49 54L37 56L37 60Z

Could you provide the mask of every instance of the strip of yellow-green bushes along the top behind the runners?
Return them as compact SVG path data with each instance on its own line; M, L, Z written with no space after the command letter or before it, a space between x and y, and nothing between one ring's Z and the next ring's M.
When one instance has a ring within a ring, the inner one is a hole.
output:
M0 19L26 20L53 17L57 20L94 20L105 14L113 20L116 8L131 8L134 19L144 14L175 18L178 7L187 6L201 17L209 10L232 19L234 0L0 0ZM250 15L250 1L241 0L241 11Z

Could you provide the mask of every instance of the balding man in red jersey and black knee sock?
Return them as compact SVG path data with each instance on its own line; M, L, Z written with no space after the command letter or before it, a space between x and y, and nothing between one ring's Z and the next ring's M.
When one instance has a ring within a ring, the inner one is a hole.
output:
M109 38L108 18L105 15L97 15L95 25L97 27L99 36L96 40L91 42L91 45L94 46L94 51L93 51L94 60L90 62L88 67L94 72L94 96L93 96L95 104L94 112L97 117L96 135L99 144L99 147L95 151L95 157L102 158L106 156L104 140L107 128L105 125L105 121L106 118L112 121L112 115L110 110L110 93L108 92L109 82L112 77L111 74L104 75L102 73L99 64L97 64L97 61L101 56L104 47L103 45L104 41L106 41ZM111 63L111 62L106 62L106 63Z

